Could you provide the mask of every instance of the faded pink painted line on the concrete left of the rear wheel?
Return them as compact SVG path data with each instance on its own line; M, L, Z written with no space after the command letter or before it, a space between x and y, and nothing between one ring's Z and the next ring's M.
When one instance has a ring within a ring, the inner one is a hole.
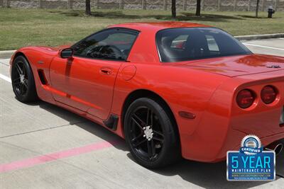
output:
M20 168L26 168L26 167L31 167L31 166L35 166L38 164L44 164L45 162L48 161L55 161L58 159L63 159L63 158L67 158L70 156L77 156L80 154L85 154L91 151L97 151L99 149L105 149L108 147L113 147L115 144L119 144L121 142L121 140L115 140L112 142L97 142L94 144L89 144L87 146L84 147L77 147L77 148L73 148L73 149L67 149L65 151L58 151L52 154L45 154L45 155L40 155L40 156L35 156L33 158L30 159L23 159L20 161L14 161L11 162L9 164L1 164L0 165L0 173L4 173L4 172L8 172L8 171L13 171L13 170L17 170Z

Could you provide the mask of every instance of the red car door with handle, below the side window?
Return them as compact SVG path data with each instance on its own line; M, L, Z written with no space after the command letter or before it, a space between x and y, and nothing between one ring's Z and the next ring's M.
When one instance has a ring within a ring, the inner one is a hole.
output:
M55 57L50 64L51 86L70 95L54 95L55 101L106 120L111 110L114 82L121 62L105 62L80 57ZM106 76L102 69L108 68L111 74Z

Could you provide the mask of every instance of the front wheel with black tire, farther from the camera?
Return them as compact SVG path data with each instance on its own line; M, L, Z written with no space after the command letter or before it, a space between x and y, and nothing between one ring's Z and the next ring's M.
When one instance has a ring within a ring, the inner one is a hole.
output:
M11 71L11 81L13 93L15 93L18 101L30 103L38 100L33 71L25 57L18 56L14 59Z

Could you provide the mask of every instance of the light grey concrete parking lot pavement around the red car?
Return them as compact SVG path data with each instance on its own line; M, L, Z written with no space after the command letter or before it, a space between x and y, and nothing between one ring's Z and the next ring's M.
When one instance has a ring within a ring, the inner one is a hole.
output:
M244 44L284 56L284 38ZM143 168L124 140L103 127L48 103L16 101L9 59L0 63L0 188L283 188L284 153L272 182L228 182L225 162Z

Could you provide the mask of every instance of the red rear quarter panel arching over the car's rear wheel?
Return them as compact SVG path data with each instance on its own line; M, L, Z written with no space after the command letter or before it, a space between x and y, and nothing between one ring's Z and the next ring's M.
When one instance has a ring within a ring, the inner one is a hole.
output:
M126 81L122 74L118 75L114 88L112 113L122 115L124 102L132 91L138 89L153 91L163 98L173 111L180 132L182 149L184 149L182 153L185 153L191 145L188 139L197 130L212 94L228 77L167 64L125 63L121 69L126 65L136 67L136 75L129 81ZM193 113L196 118L192 120L181 118L178 115L179 111ZM117 133L124 136L122 122L119 122Z

